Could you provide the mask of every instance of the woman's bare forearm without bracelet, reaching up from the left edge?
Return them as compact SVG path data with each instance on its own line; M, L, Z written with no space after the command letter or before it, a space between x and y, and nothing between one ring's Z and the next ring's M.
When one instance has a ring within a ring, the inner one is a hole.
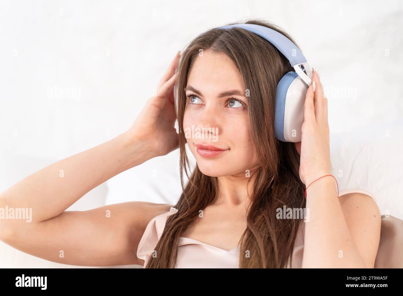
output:
M40 222L65 211L91 189L149 159L147 148L126 133L57 161L0 194L0 207L32 209Z

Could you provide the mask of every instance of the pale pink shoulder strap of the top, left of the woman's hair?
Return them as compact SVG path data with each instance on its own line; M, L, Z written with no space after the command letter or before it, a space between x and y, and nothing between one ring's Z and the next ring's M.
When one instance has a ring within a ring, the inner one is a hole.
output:
M162 213L148 222L145 232L139 242L139 246L137 247L137 257L145 261L144 265L147 264L148 258L155 250L158 240L160 240L165 228L166 219L168 216L177 213L177 211L178 209L171 207L169 212Z

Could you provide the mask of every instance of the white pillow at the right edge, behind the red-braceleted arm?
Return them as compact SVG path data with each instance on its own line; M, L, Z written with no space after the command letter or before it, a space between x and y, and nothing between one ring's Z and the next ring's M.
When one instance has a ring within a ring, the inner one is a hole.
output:
M381 215L403 219L403 118L330 134L339 191L359 188L376 198Z

